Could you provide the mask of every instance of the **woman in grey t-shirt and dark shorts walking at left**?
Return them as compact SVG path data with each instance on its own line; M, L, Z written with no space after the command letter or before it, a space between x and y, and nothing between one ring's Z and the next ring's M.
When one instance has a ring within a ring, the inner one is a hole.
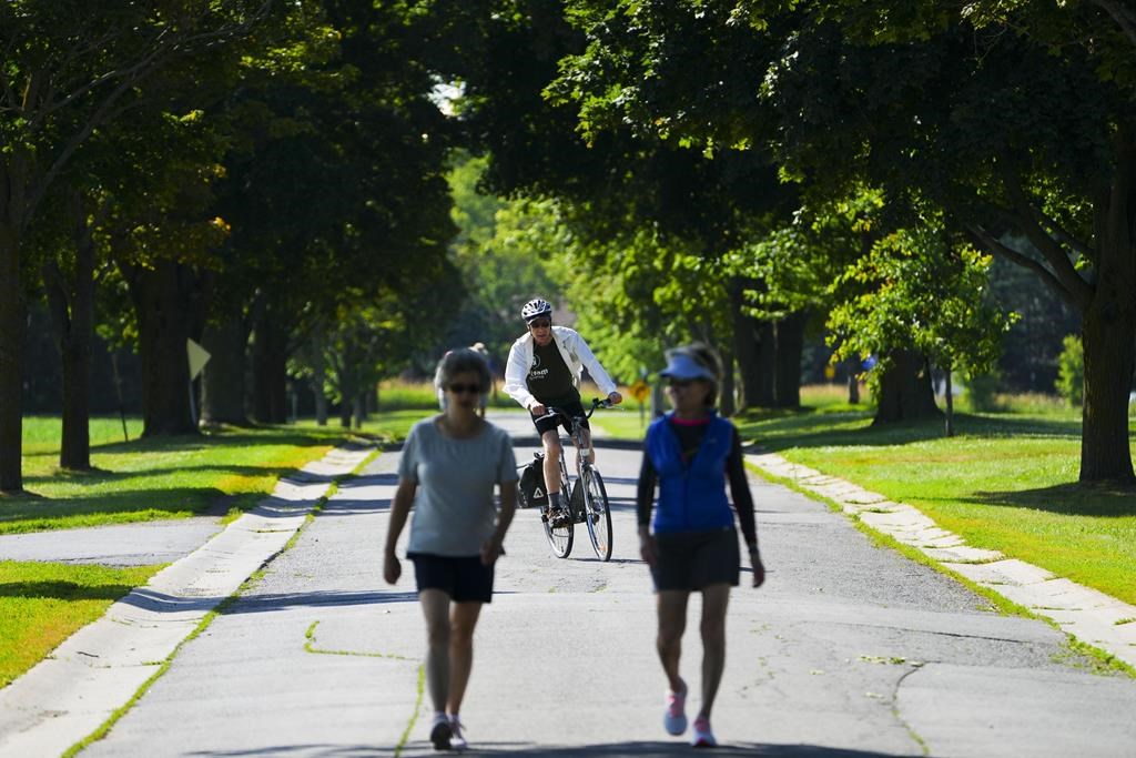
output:
M468 348L448 352L434 381L445 392L445 410L407 435L383 577L394 584L402 574L394 549L412 505L407 557L426 616L431 741L449 750L466 747L458 711L474 664L474 627L482 605L493 599L493 565L517 502L517 463L508 433L478 416L491 381L481 355Z

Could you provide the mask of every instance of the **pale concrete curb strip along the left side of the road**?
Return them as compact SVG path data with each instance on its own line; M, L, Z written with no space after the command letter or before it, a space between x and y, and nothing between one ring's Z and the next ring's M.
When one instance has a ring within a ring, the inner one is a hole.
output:
M335 449L281 480L254 509L0 690L0 756L58 756L102 725L370 451Z

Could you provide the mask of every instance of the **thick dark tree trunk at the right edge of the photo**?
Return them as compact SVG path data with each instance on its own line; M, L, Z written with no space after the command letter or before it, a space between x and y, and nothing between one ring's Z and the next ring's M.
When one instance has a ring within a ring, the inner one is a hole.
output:
M1136 143L1118 136L1108 201L1097 206L1096 291L1085 310L1080 481L1131 483L1128 393L1136 368Z

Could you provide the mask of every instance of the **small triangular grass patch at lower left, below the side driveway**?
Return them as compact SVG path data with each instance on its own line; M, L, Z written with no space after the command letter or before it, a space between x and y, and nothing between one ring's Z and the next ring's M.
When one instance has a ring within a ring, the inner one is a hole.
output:
M159 568L0 561L0 686Z

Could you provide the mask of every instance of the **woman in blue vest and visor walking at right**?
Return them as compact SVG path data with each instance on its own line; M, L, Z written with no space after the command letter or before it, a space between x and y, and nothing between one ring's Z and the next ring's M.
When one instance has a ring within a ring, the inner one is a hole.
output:
M691 735L695 747L717 744L710 709L726 664L729 589L737 586L741 573L735 517L750 552L753 586L766 578L742 443L734 425L715 411L720 366L703 344L667 352L659 376L668 382L674 410L646 431L636 499L640 553L651 567L658 594L655 644L669 684L663 726L676 736L686 732L687 686L678 674L686 605L691 592L702 593L702 701Z

